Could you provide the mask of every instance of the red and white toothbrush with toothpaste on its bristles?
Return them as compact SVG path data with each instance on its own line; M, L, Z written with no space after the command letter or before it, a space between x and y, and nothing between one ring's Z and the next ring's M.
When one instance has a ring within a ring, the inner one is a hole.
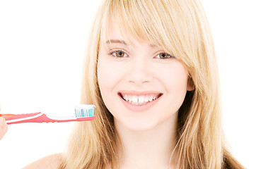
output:
M95 106L92 104L80 104L75 107L73 116L53 116L45 113L27 113L27 114L0 114L0 117L6 119L8 125L18 123L61 123L70 121L86 121L95 119Z

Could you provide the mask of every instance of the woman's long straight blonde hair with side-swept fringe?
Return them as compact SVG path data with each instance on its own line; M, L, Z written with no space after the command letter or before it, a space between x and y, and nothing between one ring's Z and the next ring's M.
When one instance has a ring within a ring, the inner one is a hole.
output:
M224 143L221 127L219 75L209 23L197 0L105 0L88 39L81 104L94 104L95 120L77 123L63 168L115 168L117 137L113 117L100 96L98 51L106 42L110 21L129 33L161 46L185 65L189 82L178 117L176 160L179 168L243 168Z

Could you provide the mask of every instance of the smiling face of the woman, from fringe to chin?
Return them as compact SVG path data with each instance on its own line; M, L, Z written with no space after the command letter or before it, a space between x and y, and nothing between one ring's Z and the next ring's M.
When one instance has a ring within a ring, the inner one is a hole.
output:
M127 35L110 24L109 40L98 56L98 84L115 123L129 130L149 130L178 117L185 99L188 73L163 49Z

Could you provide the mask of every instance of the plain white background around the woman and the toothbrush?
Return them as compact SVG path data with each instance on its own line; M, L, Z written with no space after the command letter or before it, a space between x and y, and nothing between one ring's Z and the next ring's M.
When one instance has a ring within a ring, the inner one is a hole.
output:
M255 7L250 0L202 0L219 60L223 125L233 154L255 168ZM99 1L0 1L1 113L73 113L83 54ZM0 168L21 168L62 152L73 123L9 125Z

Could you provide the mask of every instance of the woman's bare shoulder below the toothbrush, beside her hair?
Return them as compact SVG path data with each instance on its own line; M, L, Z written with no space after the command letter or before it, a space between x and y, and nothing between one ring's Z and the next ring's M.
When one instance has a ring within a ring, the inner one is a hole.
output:
M29 165L25 166L23 169L59 169L62 165L63 156L62 154L52 154L50 156L45 156Z

